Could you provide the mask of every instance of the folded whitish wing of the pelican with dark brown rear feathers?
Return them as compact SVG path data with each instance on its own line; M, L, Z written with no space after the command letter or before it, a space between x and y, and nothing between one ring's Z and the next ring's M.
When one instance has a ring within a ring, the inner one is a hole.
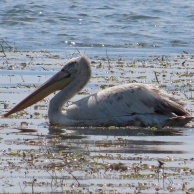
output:
M69 106L72 119L109 119L134 114L188 114L182 103L147 84L126 84L102 90Z

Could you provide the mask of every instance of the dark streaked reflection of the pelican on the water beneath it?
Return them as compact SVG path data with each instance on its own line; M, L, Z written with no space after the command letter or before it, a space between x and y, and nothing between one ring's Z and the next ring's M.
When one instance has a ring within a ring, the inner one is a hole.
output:
M184 135L182 129L146 128L56 128L50 126L49 134L60 135L63 152L84 152L87 146L91 152L99 153L161 153L182 154L184 142L172 136ZM72 143L68 147L66 144ZM64 145L64 146L63 146ZM99 149L97 149L97 146Z

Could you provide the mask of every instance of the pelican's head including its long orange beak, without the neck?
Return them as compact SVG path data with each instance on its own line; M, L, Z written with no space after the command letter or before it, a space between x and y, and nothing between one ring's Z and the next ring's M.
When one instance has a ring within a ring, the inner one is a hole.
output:
M83 77L84 85L89 81L91 76L90 62L85 56L70 59L64 67L51 77L42 86L37 88L33 93L27 96L4 116L7 117L13 113L23 110L36 102L42 100L49 94L62 90L76 77Z

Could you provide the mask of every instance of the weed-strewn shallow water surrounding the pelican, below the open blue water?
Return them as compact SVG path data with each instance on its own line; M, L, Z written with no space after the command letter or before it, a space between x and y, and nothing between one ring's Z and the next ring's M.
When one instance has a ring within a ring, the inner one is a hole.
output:
M1 115L72 57L45 51L0 54ZM137 81L176 94L194 114L192 55L109 58L109 62L94 57L91 62L92 78L72 101ZM1 193L193 192L193 122L187 128L164 129L52 127L47 118L51 97L0 118Z

